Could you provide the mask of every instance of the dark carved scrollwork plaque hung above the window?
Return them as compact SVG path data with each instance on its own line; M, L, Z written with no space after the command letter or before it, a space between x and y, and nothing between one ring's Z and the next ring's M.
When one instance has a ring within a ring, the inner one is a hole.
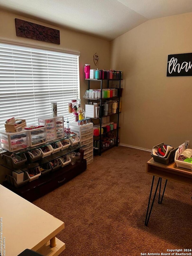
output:
M29 21L15 19L16 35L53 44L60 44L57 29L41 26Z

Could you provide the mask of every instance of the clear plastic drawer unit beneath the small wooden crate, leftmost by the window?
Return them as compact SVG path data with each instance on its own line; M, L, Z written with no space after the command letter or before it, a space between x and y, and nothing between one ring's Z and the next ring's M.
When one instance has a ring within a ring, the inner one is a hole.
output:
M20 149L29 147L29 137L26 130L20 132L6 132L0 131L0 144L1 148L14 152Z

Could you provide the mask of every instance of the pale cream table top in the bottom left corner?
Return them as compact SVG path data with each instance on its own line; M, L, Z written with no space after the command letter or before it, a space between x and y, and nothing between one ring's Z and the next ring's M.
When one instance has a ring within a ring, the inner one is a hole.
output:
M64 222L0 185L0 249L5 238L6 256L36 251L63 228Z

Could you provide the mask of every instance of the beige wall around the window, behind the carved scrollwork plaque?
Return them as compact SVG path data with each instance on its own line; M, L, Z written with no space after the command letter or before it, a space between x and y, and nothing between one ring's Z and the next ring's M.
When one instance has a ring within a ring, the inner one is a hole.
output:
M55 28L60 31L60 45L50 44L46 42L26 39L16 36L15 31L15 18L30 21L47 27ZM79 51L79 71L80 71L80 97L82 99L82 106L86 101L83 100L83 95L87 89L87 82L84 80L84 65L85 63L91 64L91 68L109 68L110 62L110 42L95 38L81 33L73 32L67 29L52 26L51 24L43 23L39 20L28 19L16 14L0 11L0 41L13 41L20 44L28 44L38 47L48 47L51 49L59 50L72 50ZM94 54L99 56L98 65L95 66L93 61ZM1 110L3 111L3 110ZM1 167L1 166L0 166ZM2 167L1 167L2 168ZM0 171L0 182L4 179L4 170Z

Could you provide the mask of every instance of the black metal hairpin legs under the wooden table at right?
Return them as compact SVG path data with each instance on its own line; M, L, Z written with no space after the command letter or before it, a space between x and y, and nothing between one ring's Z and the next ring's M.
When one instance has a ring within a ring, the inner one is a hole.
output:
M149 211L149 206L150 206L150 202L151 202L151 196L152 196L152 190L153 190L154 179L155 179L155 176L153 176L153 179L152 179L151 191L150 191L150 195L149 195L149 202L148 202L147 213L146 213L146 218L145 218L145 225L146 225L146 226L147 226L148 223L149 223L149 218L150 218L150 215L151 215L151 212L152 212L152 208L153 208L153 204L154 204L154 201L155 201L155 197L156 197L156 194L157 194L157 191L158 191L158 186L159 186L159 198L158 198L158 203L161 204L162 201L163 201L164 192L165 192L165 188L166 188L166 185L167 185L167 179L166 179L165 185L164 185L163 194L162 194L162 196L161 196L161 182L162 182L162 178L159 177L158 182L157 182L157 185L156 185L155 193L154 193L154 196L153 196L151 208L150 208L150 211ZM160 200L160 197L161 197L161 200Z

